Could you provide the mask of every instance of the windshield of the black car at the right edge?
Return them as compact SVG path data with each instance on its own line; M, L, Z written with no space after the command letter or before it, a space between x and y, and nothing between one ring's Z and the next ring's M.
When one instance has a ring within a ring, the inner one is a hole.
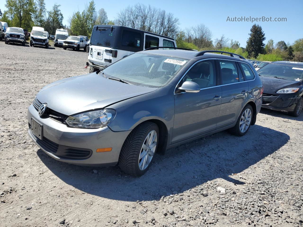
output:
M258 70L263 77L278 77L290 81L301 81L303 67L296 65L267 64Z

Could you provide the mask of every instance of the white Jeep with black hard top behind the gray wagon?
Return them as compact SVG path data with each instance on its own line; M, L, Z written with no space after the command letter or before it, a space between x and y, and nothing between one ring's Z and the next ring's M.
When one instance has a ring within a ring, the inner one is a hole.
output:
M118 25L95 25L89 44L90 72L150 47L177 47L175 39Z

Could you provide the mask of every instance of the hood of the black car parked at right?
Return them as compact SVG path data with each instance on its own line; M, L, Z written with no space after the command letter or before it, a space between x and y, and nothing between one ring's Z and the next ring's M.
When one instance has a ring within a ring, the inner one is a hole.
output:
M260 76L265 94L275 94L278 90L287 87L301 86L301 81L288 81L274 77Z

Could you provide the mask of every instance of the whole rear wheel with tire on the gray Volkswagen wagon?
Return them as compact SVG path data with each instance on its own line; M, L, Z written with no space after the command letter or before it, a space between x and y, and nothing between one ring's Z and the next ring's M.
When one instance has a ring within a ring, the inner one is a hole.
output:
M250 118L249 118L249 116L246 118L245 116L243 116L244 118L245 118L245 120L247 120L246 121L246 123L245 123L245 121L243 122L243 119L242 119L242 115L243 115L243 113L245 112L245 111L247 111L246 113L248 113L248 115L249 115L249 113L250 113ZM241 114L240 114L240 116L239 116L239 118L238 118L238 120L237 120L237 123L236 123L236 125L234 126L234 127L232 127L231 129L229 129L229 132L231 133L231 134L234 134L234 135L236 135L236 136L244 136L247 132L248 132L248 130L249 130L249 128L250 128L250 126L251 126L251 122L252 122L252 117L254 116L254 114L253 114L254 112L253 112L253 109L252 109L252 107L251 107L251 105L246 105L244 108L243 108L243 110L241 111ZM249 120L249 122L248 122L248 120ZM243 122L244 124L245 124L245 126L244 126L244 130L243 130L243 124L241 124L241 126L240 126L240 121L241 122ZM247 127L247 123L248 123L248 127ZM241 130L242 129L242 130Z

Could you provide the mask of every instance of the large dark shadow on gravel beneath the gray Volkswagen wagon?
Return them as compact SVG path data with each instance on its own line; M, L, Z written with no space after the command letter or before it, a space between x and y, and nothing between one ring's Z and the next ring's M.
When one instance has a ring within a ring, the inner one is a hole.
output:
M244 137L235 137L226 131L216 133L169 149L165 156L155 156L148 172L138 178L122 173L118 166L68 165L42 150L37 154L56 176L83 192L108 199L146 201L181 193L217 178L244 184L231 174L245 171L288 140L287 134L259 125L252 126ZM93 173L93 169L98 169L98 173Z

